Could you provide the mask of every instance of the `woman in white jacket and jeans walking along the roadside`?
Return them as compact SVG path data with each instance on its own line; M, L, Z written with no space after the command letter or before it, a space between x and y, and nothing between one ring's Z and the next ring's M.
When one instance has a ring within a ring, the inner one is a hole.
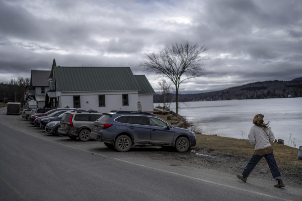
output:
M249 131L249 143L254 145L255 152L249 160L248 165L244 168L242 175L237 175L239 179L246 182L249 174L257 165L257 163L265 157L268 166L270 167L271 174L275 180L278 181L274 187L281 188L285 185L283 184L282 177L277 166L276 160L274 158L273 148L270 142L275 140L274 133L269 128L269 122L265 123L263 121L263 114L256 114L253 118L254 125Z

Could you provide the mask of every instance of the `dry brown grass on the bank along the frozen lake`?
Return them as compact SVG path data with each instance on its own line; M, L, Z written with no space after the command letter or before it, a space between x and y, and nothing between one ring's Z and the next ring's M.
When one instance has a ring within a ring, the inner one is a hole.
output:
M156 114L156 116L167 121L167 115ZM171 121L167 122L170 123ZM195 147L204 149L212 148L216 151L247 157L254 153L254 147L249 144L249 140L247 139L236 139L204 134L196 134L196 138L197 142ZM297 160L299 149L277 143L271 143L271 145L274 149L274 156L280 170L291 170L297 167L302 167L302 160ZM263 158L262 160L265 159Z

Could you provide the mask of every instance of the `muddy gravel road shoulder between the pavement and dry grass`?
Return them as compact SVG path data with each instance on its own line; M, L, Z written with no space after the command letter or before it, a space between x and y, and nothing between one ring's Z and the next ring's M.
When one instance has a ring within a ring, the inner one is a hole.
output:
M171 166L191 166L195 168L213 168L230 174L240 174L249 161L249 157L221 153L214 149L193 148L185 153L178 153L172 148L161 147L134 147L131 149L138 155L144 155L151 160L163 160L171 163ZM195 152L195 153L193 153ZM252 155L252 154L251 154ZM251 177L272 179L270 169L263 158L250 174ZM302 185L302 167L282 171L284 183ZM302 187L302 186L301 186Z

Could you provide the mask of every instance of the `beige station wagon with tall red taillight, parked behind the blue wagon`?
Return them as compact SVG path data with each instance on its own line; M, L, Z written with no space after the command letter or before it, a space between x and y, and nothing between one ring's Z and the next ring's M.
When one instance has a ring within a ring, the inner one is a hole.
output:
M58 132L66 133L70 139L88 141L93 122L101 116L102 113L98 112L66 112L61 119Z

